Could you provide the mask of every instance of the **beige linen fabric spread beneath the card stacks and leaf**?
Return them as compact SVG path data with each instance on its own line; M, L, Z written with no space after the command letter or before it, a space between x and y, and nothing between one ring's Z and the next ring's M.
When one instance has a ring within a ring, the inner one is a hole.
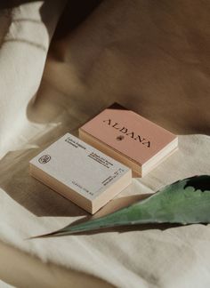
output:
M103 1L74 30L61 21L44 68L63 5L22 4L2 34L0 240L120 287L208 287L208 225L25 240L87 216L32 179L29 159L64 132L77 135L81 124L115 100L180 134L180 149L143 179L133 179L96 217L175 180L210 172L209 2ZM69 2L62 18L70 8ZM44 11L52 16L43 17ZM28 15L34 21L28 23Z

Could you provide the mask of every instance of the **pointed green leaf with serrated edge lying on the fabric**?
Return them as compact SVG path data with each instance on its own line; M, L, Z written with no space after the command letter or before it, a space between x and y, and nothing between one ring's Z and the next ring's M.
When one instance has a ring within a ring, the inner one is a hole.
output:
M179 180L128 207L104 217L69 225L44 236L66 236L99 228L145 223L210 222L210 176ZM44 237L36 236L36 237Z

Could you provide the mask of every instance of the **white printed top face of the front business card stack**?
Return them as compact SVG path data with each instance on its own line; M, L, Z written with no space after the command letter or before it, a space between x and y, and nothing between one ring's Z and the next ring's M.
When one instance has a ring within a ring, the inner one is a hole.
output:
M90 201L101 196L130 169L70 133L30 161ZM113 196L120 190L116 190Z

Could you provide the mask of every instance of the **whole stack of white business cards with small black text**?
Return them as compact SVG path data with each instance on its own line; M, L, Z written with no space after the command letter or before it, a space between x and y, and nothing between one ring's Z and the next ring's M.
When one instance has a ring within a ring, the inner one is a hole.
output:
M69 133L30 161L30 174L91 213L132 181L130 168Z

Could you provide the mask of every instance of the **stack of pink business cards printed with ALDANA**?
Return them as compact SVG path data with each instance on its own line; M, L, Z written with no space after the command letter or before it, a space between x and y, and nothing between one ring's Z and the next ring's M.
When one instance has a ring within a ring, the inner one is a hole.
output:
M79 137L144 176L178 148L178 137L117 103L79 129Z

